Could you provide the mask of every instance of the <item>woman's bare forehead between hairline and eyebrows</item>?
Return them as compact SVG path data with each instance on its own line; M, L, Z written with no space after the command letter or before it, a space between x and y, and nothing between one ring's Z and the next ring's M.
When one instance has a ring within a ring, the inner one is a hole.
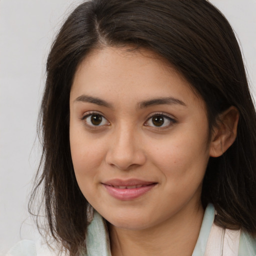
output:
M71 87L74 95L89 94L109 100L173 96L201 101L186 79L156 53L131 47L94 49L78 66Z

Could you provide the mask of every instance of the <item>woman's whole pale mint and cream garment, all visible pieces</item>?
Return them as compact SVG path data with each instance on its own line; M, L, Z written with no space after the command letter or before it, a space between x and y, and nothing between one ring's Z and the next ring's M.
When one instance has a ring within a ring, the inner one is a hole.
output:
M215 210L209 204L204 212L199 236L192 256L256 256L256 239L240 230L218 227L213 223ZM109 238L102 217L94 212L86 236L87 254L81 256L111 256ZM21 240L5 256L56 256L40 240Z

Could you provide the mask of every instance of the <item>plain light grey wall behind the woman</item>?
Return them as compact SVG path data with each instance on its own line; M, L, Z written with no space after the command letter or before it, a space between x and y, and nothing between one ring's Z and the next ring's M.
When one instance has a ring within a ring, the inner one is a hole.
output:
M35 138L45 62L53 35L81 1L0 0L0 255L36 235L27 202L40 157ZM256 0L210 1L236 31L256 92Z

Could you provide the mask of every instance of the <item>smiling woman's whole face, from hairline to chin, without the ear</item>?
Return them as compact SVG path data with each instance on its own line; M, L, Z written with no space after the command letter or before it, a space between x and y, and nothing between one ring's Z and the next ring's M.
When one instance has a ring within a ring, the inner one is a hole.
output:
M207 141L204 101L153 53L105 47L79 65L70 91L73 167L112 225L149 228L198 208Z

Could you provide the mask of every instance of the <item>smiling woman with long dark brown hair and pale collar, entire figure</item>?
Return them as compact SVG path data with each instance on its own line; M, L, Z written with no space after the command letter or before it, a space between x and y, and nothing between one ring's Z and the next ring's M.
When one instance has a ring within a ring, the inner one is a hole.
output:
M31 203L43 186L64 254L255 255L255 110L206 0L79 5L49 53L40 117Z

